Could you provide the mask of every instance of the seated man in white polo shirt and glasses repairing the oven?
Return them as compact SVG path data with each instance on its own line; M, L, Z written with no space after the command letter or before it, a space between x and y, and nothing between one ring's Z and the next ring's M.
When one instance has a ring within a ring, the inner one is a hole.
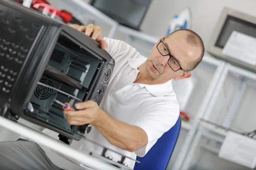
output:
M77 103L75 108L79 111L64 112L67 121L70 125L93 125L86 137L107 148L133 159L144 156L178 119L179 104L172 79L191 77L189 71L197 67L204 55L201 38L190 30L175 31L161 37L145 58L125 42L102 38L99 27L70 26L96 40L113 57L115 68L100 106L93 101ZM58 136L50 130L44 133ZM84 140L71 145L87 152L102 152L102 147ZM113 161L121 159L110 150L106 155ZM135 162L125 159L124 163L133 168ZM80 170L79 164L43 144L0 143L0 167L4 169Z

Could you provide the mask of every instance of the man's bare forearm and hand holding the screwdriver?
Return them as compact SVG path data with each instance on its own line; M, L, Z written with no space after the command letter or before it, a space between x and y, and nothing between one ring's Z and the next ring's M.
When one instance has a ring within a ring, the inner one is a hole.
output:
M64 111L70 125L93 125L105 139L116 147L134 152L148 142L147 134L137 126L120 122L99 108L96 102L75 105L79 111Z

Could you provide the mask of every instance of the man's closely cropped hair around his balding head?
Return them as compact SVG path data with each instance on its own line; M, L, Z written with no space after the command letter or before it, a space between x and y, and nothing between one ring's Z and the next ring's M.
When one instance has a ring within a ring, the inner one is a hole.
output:
M182 31L184 34L186 34L186 42L189 45L196 46L196 47L200 48L200 50L201 50L201 54L196 59L194 59L192 62L189 62L188 66L187 66L187 68L188 68L187 70L192 71L199 65L199 63L202 61L202 59L204 57L204 51L205 51L204 42L198 34L196 34L194 31L189 30L189 29L178 29L178 30L173 31L172 33L168 34L166 36L166 38L171 37L173 34L175 34L177 32L181 33L180 31Z

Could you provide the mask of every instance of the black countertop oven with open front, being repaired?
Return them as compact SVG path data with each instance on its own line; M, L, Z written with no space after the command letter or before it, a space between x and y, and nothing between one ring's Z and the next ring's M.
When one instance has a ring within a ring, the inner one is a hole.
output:
M10 0L0 1L0 25L0 116L23 118L80 140L83 126L67 124L53 102L79 100L37 83L99 105L115 65L112 57L84 33Z

